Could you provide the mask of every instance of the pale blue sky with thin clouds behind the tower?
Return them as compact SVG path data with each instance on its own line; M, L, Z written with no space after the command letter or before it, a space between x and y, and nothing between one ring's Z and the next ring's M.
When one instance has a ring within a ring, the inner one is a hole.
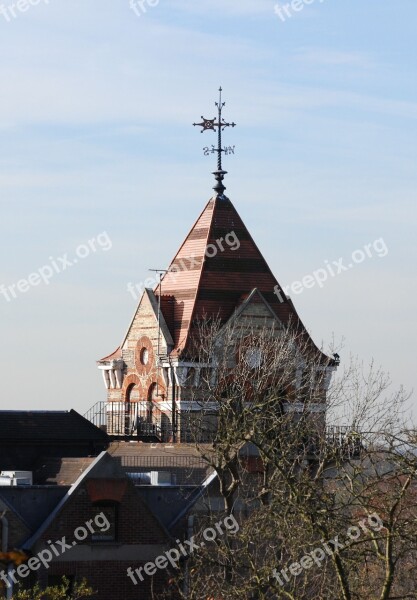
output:
M313 339L414 394L416 22L415 0L0 0L1 409L105 400L128 283L212 195L192 123L220 85L226 193Z

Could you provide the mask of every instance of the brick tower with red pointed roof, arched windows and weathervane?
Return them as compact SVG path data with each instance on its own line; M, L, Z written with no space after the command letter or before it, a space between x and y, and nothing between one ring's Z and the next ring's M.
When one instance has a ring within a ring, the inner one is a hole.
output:
M327 379L335 363L311 340L261 251L225 195L222 117L205 119L202 131L217 129L216 185L168 269L154 289L144 290L120 346L98 361L107 388L105 424L113 436L143 441L187 441L187 419L200 409L193 398L203 369L191 350L198 324L207 318L226 326L231 319L258 320L279 328L291 324L318 357ZM197 125L197 124L194 124ZM191 393L193 392L193 393ZM185 418L187 416L187 418ZM207 440L209 441L209 440Z

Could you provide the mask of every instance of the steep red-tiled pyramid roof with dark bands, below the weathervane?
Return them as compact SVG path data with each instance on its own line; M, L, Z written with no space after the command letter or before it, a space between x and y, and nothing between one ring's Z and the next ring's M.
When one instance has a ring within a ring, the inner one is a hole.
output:
M284 325L291 321L308 335L232 202L225 196L214 197L161 282L162 297L169 297L174 304L167 318L174 339L173 353L186 351L199 319L213 316L226 322L254 288ZM161 290L156 286L155 294Z

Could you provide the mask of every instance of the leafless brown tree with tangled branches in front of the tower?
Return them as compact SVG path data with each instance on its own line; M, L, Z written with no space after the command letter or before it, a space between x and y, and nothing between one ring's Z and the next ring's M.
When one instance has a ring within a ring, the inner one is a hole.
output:
M201 322L190 359L200 411L188 425L223 499L223 512L200 519L200 535L222 514L240 528L190 557L185 595L417 598L417 462L404 390L390 393L384 373L357 361L330 381L334 360L272 317Z

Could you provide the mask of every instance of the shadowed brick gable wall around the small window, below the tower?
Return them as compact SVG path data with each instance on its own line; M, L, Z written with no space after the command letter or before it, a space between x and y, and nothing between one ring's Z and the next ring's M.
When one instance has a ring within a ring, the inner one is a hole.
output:
M87 483L88 480L80 484L62 511L43 533L36 547L33 548L34 555L48 548L48 540L54 543L65 536L65 541L71 544L75 539L74 531L78 527L85 527L87 521L94 519L96 513L88 493ZM107 485L111 487L111 480ZM37 576L42 584L47 584L48 576L51 575L76 576L77 580L86 578L89 585L98 592L94 596L96 600L151 599L152 578L147 577L145 582L135 586L128 578L126 570L129 566L133 569L143 566L170 546L171 542L165 530L137 495L133 484L127 481L122 501L118 504L116 541L94 542L89 536L85 541L78 541L76 547L67 550L62 557L52 561L49 569L39 569ZM140 560L138 560L138 552L141 555ZM86 555L90 559L83 558ZM117 556L123 558L117 560ZM158 572L154 577L153 585L161 590L167 577L168 572Z

